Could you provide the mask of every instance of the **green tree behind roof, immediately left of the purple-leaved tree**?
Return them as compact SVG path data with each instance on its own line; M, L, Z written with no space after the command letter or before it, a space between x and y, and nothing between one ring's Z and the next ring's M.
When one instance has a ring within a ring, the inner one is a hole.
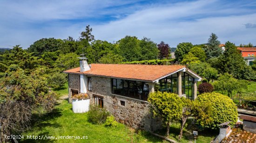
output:
M151 41L150 38L143 37L140 40L141 47L141 59L140 60L153 60L157 59L159 50L157 49L156 44Z

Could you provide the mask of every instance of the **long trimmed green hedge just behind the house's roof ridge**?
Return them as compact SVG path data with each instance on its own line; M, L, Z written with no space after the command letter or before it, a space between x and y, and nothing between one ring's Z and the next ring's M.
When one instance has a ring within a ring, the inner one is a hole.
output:
M149 65L170 65L173 64L175 59L162 59L162 60L143 60L133 62L121 62L121 64L149 64Z

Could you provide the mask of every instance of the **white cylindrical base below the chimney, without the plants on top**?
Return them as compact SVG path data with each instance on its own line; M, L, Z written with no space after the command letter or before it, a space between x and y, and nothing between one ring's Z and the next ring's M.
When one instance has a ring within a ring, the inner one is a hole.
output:
M90 99L73 99L72 109L74 113L84 113L89 111Z

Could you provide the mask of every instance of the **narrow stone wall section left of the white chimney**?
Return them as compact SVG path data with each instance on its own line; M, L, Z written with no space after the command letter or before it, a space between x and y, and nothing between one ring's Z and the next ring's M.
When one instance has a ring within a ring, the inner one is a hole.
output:
M68 102L72 103L71 89L77 90L80 93L80 75L68 74Z

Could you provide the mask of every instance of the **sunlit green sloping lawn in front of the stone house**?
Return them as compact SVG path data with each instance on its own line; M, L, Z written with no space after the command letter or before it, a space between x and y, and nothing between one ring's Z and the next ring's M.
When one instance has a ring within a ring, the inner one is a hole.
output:
M136 134L123 124L117 128L108 128L104 124L88 123L87 113L76 114L72 112L72 105L67 100L56 106L53 112L37 118L31 130L23 132L21 143L167 143L152 136L145 131ZM27 136L88 136L88 139L27 139Z

